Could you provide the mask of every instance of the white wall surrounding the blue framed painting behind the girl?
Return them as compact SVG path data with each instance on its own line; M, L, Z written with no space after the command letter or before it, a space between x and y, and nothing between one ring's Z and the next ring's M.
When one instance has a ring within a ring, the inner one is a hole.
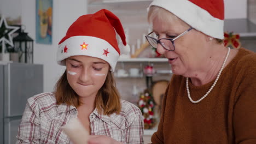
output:
M36 40L36 1L21 0L21 22L26 32ZM34 63L44 65L44 92L53 91L65 67L57 65L56 51L59 41L65 36L68 27L80 16L87 13L87 0L53 1L53 44L34 43Z

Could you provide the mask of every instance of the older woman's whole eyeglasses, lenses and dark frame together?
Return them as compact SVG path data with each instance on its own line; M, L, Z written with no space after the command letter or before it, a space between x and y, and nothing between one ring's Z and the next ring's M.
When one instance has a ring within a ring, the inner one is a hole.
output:
M148 40L148 43L154 47L156 49L156 47L158 47L158 44L161 44L162 47L164 47L164 49L168 50L168 51L174 51L175 50L175 45L174 45L174 40L178 39L179 37L182 37L182 35L188 33L191 29L193 29L193 27L190 27L187 31L183 32L182 34L179 34L176 38L174 39L167 39L167 38L163 38L163 39L156 39L153 37L150 37L149 35L152 34L153 32L150 32L148 35L146 35L146 39Z

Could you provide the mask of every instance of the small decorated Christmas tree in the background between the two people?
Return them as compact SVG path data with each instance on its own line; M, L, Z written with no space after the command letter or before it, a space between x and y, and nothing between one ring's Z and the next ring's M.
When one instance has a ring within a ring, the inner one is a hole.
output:
M141 109L144 119L144 129L151 129L155 126L154 100L152 93L146 89L139 97L138 107Z

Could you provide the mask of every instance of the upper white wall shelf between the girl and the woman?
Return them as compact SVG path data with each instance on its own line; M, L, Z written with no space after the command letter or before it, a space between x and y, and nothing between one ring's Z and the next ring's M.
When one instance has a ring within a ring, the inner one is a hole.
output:
M121 58L118 62L168 62L167 58Z

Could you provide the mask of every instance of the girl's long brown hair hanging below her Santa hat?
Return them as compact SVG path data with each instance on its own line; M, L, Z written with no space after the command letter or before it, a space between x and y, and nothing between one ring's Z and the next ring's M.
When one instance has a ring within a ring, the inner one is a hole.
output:
M79 96L68 83L66 70L55 85L55 97L59 105L65 103L78 107L82 104L79 101ZM98 112L103 112L103 115L120 113L120 95L115 87L115 80L111 71L108 71L106 80L96 95L95 106Z

